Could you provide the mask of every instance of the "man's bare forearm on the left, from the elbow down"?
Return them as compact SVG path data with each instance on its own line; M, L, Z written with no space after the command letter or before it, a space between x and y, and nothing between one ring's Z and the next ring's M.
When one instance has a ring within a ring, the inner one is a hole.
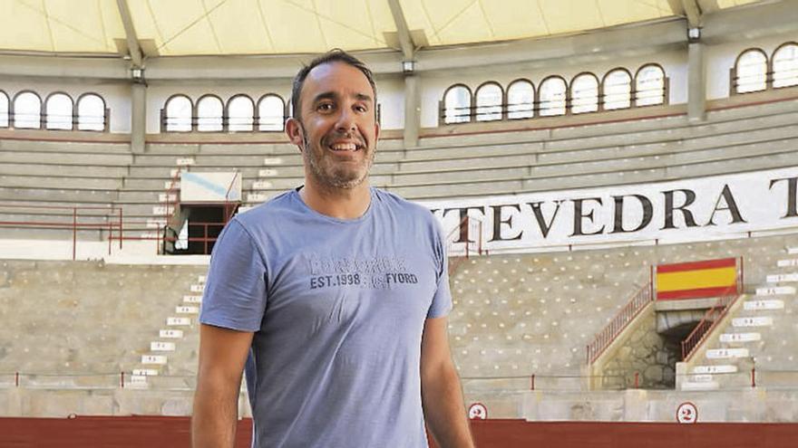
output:
M198 385L191 416L193 448L233 448L238 424L238 387L234 391Z

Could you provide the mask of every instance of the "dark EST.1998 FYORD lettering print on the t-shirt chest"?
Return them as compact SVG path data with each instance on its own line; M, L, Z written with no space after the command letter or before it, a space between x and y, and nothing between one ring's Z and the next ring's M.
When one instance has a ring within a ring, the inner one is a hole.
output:
M326 288L397 289L418 283L404 257L307 257L307 286Z

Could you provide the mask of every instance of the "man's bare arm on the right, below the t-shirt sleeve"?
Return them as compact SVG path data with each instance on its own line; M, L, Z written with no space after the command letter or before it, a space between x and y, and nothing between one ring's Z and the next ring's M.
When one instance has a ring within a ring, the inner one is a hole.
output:
M426 319L421 343L421 395L424 418L441 448L474 446L460 377L452 362L447 319Z

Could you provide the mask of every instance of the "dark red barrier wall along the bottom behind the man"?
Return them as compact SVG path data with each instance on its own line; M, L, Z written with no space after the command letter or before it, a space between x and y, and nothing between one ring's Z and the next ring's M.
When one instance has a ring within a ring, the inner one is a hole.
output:
M189 426L188 417L0 418L0 447L189 448ZM251 431L252 422L249 419L242 420L238 424L237 448L248 448ZM798 424L486 420L474 421L472 431L479 448L793 448L798 446Z

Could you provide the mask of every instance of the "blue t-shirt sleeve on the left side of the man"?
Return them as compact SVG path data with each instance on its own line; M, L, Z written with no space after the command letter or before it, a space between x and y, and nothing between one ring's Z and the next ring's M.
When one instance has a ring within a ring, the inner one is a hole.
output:
M258 245L233 219L213 247L199 321L258 331L267 301L267 269Z

